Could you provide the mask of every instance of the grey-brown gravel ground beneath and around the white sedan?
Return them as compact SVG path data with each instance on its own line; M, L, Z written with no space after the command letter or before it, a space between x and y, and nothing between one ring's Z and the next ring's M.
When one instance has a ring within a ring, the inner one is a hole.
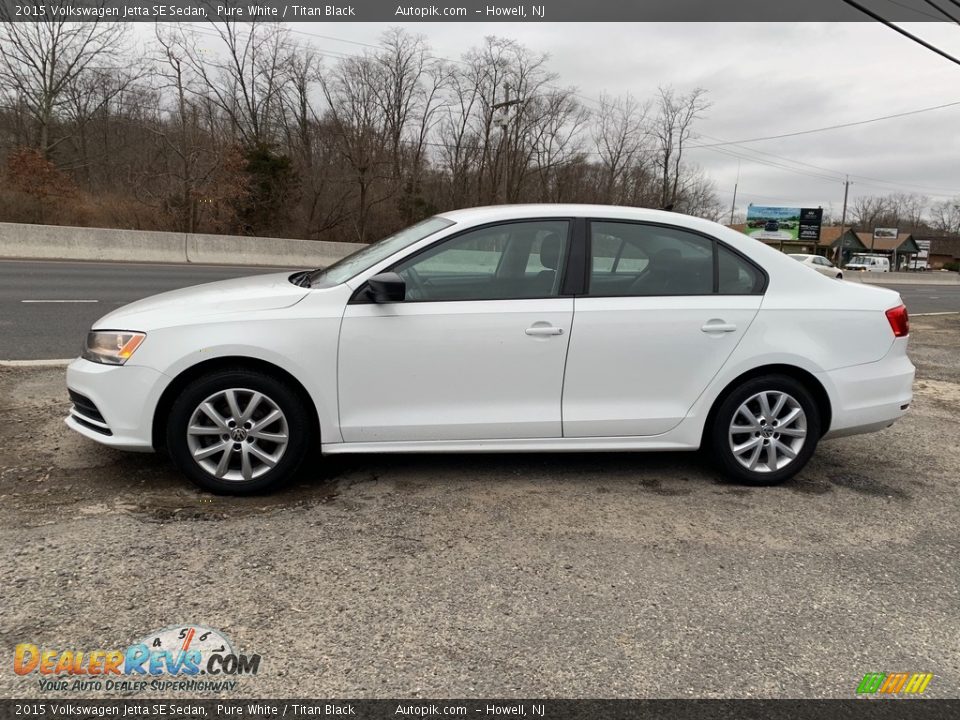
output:
M0 697L41 694L17 643L186 622L262 656L241 697L960 696L960 319L913 330L908 416L760 489L696 454L393 456L213 497L69 432L62 370L0 369Z

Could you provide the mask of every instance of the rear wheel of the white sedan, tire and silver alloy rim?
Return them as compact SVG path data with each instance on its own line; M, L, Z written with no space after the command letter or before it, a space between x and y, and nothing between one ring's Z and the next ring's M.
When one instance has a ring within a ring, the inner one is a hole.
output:
M776 485L803 469L820 435L820 411L809 390L787 375L764 375L747 380L720 403L710 449L727 478Z

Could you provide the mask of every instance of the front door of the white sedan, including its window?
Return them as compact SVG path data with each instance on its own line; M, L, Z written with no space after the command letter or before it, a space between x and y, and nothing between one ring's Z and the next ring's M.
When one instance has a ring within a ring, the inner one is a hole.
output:
M340 330L344 441L560 437L571 226L512 221L438 241L392 267L403 302L360 288Z

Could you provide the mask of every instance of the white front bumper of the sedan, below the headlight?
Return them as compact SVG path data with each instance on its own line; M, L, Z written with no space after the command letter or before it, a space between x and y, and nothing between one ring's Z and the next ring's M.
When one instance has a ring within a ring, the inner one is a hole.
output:
M168 381L151 368L77 358L67 368L73 406L65 422L104 445L152 452L153 413Z

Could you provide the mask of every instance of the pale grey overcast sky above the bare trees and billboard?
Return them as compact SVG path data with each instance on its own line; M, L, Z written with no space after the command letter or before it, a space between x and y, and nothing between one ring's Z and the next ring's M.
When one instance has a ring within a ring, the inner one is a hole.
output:
M661 84L681 92L706 88L712 107L699 123L698 144L960 102L960 65L873 22L396 25L425 35L434 54L446 58L459 58L484 35L517 40L549 53L549 67L560 76L558 84L576 86L584 98L629 92L644 99L652 97ZM363 52L363 47L345 41L376 43L387 25L293 23L289 27L318 50L355 54ZM960 57L960 26L904 27ZM960 105L727 149L749 156L740 160L740 211L752 202L822 205L839 215L847 173L854 183L851 197L897 190L923 193L932 201L960 196ZM750 150L780 157L757 156ZM765 166L750 157L834 179ZM691 150L689 159L713 178L721 200L731 202L738 159L706 149Z

